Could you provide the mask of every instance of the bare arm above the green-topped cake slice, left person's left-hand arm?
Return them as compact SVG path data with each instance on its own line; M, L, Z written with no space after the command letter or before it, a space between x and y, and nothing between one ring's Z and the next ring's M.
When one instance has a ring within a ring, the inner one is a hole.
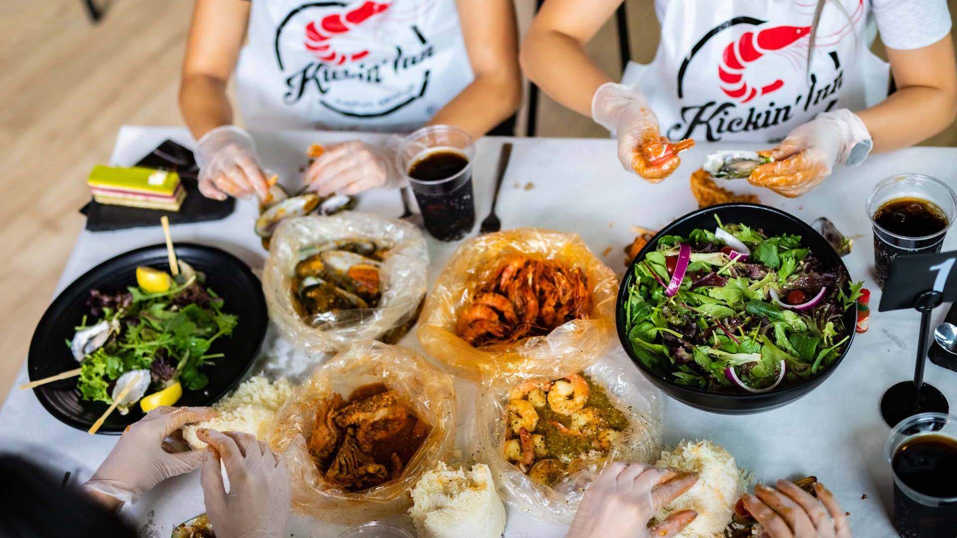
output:
M196 140L214 127L233 123L226 83L246 34L249 4L245 0L196 0L179 93L180 112Z

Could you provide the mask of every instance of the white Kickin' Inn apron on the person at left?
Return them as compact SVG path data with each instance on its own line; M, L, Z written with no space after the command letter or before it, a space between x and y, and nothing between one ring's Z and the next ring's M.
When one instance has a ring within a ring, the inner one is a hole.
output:
M251 128L411 131L473 78L455 0L253 0L248 35Z

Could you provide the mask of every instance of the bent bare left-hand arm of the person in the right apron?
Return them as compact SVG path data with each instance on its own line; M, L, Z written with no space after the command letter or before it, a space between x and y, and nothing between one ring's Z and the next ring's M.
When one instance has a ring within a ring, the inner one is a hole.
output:
M591 117L591 97L612 81L585 54L585 44L622 0L547 0L522 44L522 69L549 97Z

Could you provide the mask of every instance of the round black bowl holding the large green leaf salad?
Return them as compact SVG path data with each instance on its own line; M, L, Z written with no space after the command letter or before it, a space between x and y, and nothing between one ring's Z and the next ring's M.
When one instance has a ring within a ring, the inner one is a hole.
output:
M657 247L657 238L662 235L687 236L692 230L703 228L713 230L717 221L715 215L725 224L741 223L751 228L760 228L766 235L792 234L801 235L801 244L811 249L814 256L820 259L825 269L841 267L845 273L847 267L837 255L835 249L818 234L811 226L796 216L768 206L757 204L721 204L688 213L678 220L662 228L648 244L641 249L637 257L632 260L625 277L618 290L618 301L615 306L615 324L618 328L618 340L625 352L631 357L635 367L657 386L662 392L687 404L711 413L722 415L751 415L764 413L772 409L788 405L790 402L812 392L824 382L840 365L854 344L855 325L857 323L857 305L844 312L844 326L849 330L850 339L844 346L841 354L830 365L819 371L817 375L800 381L794 385L783 387L770 392L708 392L703 389L680 385L673 381L664 372L655 371L641 362L634 354L632 343L628 339L625 328L624 304L628 299L628 290L634 282L634 264L645 258L649 252Z

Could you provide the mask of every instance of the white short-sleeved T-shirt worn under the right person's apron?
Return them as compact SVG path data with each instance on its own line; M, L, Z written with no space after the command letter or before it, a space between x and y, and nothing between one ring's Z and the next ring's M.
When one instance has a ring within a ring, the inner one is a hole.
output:
M658 22L664 18L665 10L672 1L655 0ZM707 0L708 9L713 9L713 4L722 2L723 0ZM947 9L946 0L868 0L867 3L871 8L867 25L872 27L877 23L880 39L888 49L920 49L940 41L950 32L950 11Z

